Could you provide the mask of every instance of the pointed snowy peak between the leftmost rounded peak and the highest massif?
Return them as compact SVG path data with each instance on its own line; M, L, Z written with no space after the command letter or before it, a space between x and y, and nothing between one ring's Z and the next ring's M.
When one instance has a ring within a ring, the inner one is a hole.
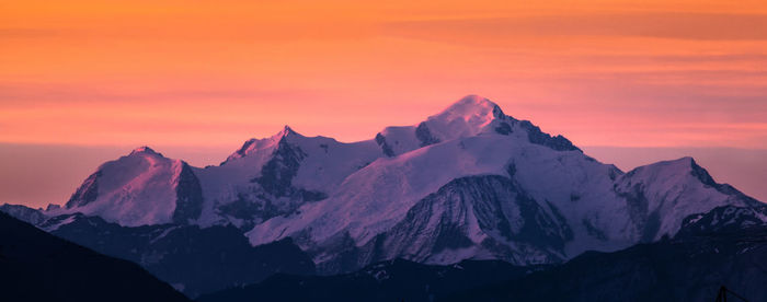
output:
M285 126L270 138L248 140L219 166L195 170L205 199L197 223L251 229L325 199L346 176L382 155L373 140L343 143Z

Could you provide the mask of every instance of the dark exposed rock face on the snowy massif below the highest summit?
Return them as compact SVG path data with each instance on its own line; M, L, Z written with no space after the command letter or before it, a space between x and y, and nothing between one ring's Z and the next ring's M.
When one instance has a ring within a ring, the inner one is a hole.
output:
M346 252L322 269L353 270L398 257L420 263L459 262L460 255L449 258L453 251L511 263L559 263L572 236L559 210L550 204L540 205L510 178L469 176L419 201L402 221L365 246L357 248L348 239L339 241L333 248Z

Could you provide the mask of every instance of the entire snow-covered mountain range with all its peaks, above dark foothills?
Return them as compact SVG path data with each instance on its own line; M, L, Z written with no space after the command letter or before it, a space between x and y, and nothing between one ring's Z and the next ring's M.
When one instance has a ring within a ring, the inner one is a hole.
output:
M716 207L758 205L692 159L623 173L470 95L365 141L286 126L206 169L137 149L46 213L233 224L253 245L293 237L335 272L392 258L559 263L672 236L686 217Z

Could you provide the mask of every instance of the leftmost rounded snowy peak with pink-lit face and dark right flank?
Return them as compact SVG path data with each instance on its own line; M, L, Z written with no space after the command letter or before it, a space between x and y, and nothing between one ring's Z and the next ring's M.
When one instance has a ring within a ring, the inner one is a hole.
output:
M199 181L186 162L141 147L101 165L62 209L50 212L81 212L136 226L194 221L202 204Z

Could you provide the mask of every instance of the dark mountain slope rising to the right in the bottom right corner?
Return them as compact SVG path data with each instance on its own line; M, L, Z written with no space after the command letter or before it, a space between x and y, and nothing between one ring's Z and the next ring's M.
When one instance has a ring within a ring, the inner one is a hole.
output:
M586 253L560 267L446 301L712 301L722 286L748 301L765 301L764 212L718 208L689 217L673 240L609 254ZM723 217L733 220L712 220ZM751 223L733 223L746 220ZM703 224L712 228L700 232Z

